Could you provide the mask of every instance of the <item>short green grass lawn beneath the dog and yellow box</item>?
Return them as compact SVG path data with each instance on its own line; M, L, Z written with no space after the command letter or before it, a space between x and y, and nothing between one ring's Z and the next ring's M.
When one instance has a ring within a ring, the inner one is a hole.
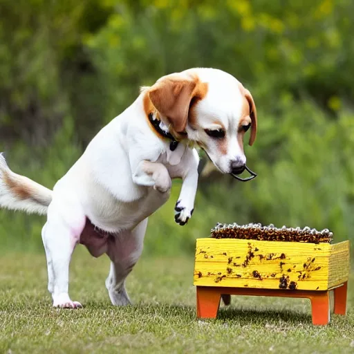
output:
M193 257L143 258L129 277L134 306L111 306L109 261L77 250L71 296L80 310L50 306L44 254L0 259L0 353L353 353L354 277L348 315L313 326L308 300L233 297L218 319L195 318Z

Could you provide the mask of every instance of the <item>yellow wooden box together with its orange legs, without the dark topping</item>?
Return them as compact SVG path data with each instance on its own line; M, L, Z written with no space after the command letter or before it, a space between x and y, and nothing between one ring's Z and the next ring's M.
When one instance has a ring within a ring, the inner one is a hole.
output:
M225 295L307 297L312 303L313 324L327 324L330 290L335 294L334 312L346 313L349 267L349 241L197 239L197 317L216 317Z

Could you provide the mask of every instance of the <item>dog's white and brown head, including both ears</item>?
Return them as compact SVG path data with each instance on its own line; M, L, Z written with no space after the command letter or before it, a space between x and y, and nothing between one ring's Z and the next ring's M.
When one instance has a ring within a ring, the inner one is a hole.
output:
M224 174L239 174L257 134L257 111L250 91L232 75L195 68L161 77L147 96L177 139L196 142Z

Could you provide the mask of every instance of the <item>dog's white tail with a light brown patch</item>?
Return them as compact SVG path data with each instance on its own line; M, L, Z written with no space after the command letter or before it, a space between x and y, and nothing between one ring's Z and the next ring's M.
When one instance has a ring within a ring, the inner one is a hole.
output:
M47 213L52 194L34 180L12 172L0 153L0 207L43 215Z

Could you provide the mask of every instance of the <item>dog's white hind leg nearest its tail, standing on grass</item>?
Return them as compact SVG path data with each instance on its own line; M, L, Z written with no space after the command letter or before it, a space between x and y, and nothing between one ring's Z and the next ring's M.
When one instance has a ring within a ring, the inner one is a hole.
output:
M42 230L48 266L48 290L53 297L54 307L82 307L79 302L72 301L68 295L71 255L80 240L86 221L84 214L78 210L80 208L71 208L70 205L66 205L63 212L62 209L49 205L48 220Z

